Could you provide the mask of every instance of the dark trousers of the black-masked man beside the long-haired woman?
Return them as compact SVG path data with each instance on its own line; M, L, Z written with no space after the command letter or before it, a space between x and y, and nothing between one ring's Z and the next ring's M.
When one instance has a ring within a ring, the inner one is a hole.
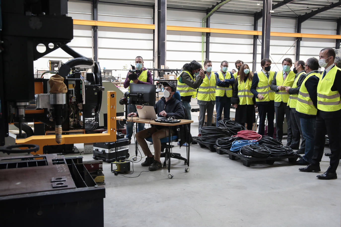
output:
M268 118L268 133L267 135L273 136L273 119L275 119L275 106L273 101L269 101L266 104L257 103L258 116L259 116L259 129L258 134L264 135L265 118Z

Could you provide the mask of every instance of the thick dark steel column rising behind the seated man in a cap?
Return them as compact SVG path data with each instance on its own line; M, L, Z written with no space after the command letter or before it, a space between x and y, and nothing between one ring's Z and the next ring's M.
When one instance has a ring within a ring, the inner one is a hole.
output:
M166 65L167 0L158 0L158 68Z

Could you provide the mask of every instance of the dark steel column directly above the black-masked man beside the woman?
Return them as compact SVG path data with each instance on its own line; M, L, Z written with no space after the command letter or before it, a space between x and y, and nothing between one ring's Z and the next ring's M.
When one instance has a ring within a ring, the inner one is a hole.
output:
M262 54L261 58L269 58L270 55L270 25L271 25L272 0L263 0L262 23Z

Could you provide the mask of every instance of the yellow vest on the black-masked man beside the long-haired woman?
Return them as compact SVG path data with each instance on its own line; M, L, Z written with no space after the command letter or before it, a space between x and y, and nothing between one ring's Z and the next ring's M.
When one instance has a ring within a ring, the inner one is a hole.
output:
M273 75L275 75L274 71L269 71L269 78L266 77L264 72L261 70L257 72L259 82L257 84L256 91L263 95L264 98L262 100L259 100L256 97L257 102L268 102L275 100L275 92L270 89L270 84L273 80Z

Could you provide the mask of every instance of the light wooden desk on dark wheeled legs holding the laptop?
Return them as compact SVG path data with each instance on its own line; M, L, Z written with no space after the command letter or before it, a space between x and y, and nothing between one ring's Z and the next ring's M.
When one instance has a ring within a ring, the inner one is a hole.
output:
M117 120L125 120L124 116L121 116L119 119ZM145 118L139 118L139 117L128 117L127 122L133 122L133 123L144 123L144 124L151 124L151 125L161 125L161 126L167 126L169 131L172 130L173 126L177 126L177 125L184 125L184 124L190 124L193 123L193 120L186 120L186 119L179 119L181 120L179 123L174 123L174 124L170 124L170 123L162 123L162 122L157 122L154 121L154 119L145 119ZM136 131L137 131L137 124L136 124ZM187 135L187 133L186 133ZM187 141L187 138L186 138ZM168 136L168 144L170 145L172 143L172 141L170 140L170 134ZM135 141L135 153L137 156L137 141ZM187 153L187 168L185 168L185 171L188 172L189 171L189 166L190 166L190 144L187 144L186 147L186 153ZM170 150L170 154L172 154L172 151ZM170 174L170 158L172 155L170 155L168 157L168 178L173 178L173 174Z

